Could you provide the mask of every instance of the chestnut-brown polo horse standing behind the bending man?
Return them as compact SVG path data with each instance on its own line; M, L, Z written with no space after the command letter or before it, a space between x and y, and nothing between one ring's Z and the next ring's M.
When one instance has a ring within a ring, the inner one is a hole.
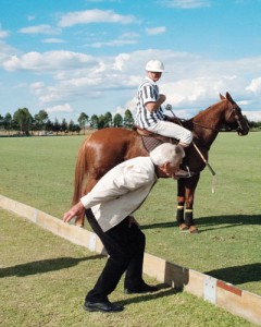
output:
M195 175L177 180L177 223L182 230L198 232L192 217L194 195L202 171L208 165L208 152L225 124L247 135L249 126L238 105L226 93L221 101L184 121L184 128L192 131L194 142L186 148L185 164ZM164 137L165 142L170 138ZM199 153L200 152L200 153ZM83 143L75 168L73 204L88 193L97 181L115 165L137 157L148 156L141 136L137 131L109 128L94 132ZM202 159L203 156L203 159ZM84 225L84 217L77 217L76 225Z

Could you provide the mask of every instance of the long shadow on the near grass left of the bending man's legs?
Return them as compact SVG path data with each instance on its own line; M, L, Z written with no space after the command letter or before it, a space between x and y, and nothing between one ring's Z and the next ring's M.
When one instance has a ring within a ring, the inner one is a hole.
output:
M11 276L25 277L29 275L61 270L64 268L76 266L80 262L92 261L102 257L104 256L92 255L92 256L86 256L79 258L59 257L53 259L45 259L39 262L16 265L13 267L0 268L0 278L11 277Z

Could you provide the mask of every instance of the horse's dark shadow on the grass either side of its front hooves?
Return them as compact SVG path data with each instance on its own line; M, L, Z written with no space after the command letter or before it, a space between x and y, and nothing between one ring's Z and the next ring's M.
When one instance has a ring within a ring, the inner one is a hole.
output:
M207 227L203 231L221 228L232 228L238 225L261 225L260 215L229 215L229 216L212 216L212 217L200 217L195 218L195 222L198 227ZM222 227L221 225L225 225ZM229 225L229 226L228 226ZM151 225L144 225L141 229L153 229L153 228L171 228L176 227L176 221L166 221ZM212 228L213 227L213 228Z

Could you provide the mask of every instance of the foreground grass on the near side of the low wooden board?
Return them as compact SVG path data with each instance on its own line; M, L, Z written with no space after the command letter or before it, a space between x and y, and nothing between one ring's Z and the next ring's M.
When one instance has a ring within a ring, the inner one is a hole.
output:
M162 288L153 294L110 295L125 310L87 313L83 303L105 257L77 246L26 219L0 209L0 326L3 327L250 327L187 292ZM147 282L158 284L145 277Z

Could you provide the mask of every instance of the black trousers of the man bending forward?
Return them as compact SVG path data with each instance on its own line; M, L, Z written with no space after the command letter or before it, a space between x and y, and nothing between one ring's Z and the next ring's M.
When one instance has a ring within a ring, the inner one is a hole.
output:
M146 242L141 230L136 225L129 227L126 217L122 222L103 232L91 209L86 210L86 217L109 254L94 289L86 295L86 301L107 301L125 271L124 288L135 289L141 286Z

